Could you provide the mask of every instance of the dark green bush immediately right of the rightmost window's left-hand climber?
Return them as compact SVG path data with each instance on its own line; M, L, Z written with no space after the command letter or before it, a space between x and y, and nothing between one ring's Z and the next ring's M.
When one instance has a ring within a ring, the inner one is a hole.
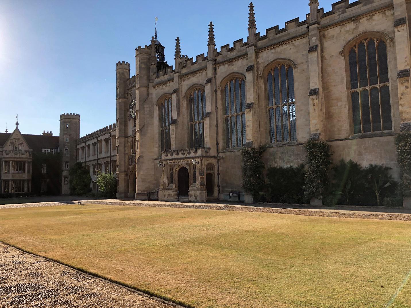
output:
M351 159L341 159L332 167L332 173L330 192L336 197L335 203L353 205L365 184L362 166Z

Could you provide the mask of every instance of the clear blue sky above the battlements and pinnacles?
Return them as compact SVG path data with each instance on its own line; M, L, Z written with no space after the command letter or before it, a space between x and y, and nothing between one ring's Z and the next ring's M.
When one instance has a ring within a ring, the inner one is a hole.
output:
M254 1L257 32L299 17L308 0ZM335 1L320 0L324 11ZM207 53L208 23L217 50L247 40L249 1L0 0L0 131L59 133L61 113L79 113L81 132L115 123L115 63L134 67L135 48L159 41L174 65L182 54ZM134 75L134 70L130 72Z

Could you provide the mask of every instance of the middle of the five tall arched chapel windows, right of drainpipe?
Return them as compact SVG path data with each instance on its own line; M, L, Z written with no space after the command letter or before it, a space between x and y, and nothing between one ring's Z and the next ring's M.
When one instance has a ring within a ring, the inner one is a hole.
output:
M226 147L245 144L245 80L234 77L224 87Z

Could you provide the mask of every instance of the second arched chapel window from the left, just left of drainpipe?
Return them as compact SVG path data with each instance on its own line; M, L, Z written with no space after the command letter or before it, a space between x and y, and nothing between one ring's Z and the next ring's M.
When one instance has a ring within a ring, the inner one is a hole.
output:
M189 94L190 147L204 147L205 92L195 88Z

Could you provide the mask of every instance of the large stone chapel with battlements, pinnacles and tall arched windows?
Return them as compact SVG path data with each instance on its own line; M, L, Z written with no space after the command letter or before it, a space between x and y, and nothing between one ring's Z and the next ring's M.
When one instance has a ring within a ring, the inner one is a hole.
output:
M227 200L243 192L242 148L267 144L267 166L298 165L307 140L398 177L394 134L411 130L410 22L410 0L342 0L329 12L310 0L304 21L260 33L250 3L247 41L217 50L210 22L207 55L182 55L177 37L173 67L156 31L136 48L134 76L116 64L117 123L106 129L118 198Z

